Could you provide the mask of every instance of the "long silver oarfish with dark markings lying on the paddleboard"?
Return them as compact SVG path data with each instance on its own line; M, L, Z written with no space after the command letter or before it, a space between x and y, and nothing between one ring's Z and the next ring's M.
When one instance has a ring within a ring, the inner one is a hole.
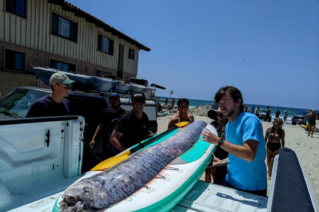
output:
M61 209L94 210L125 199L189 149L206 125L204 121L195 121L159 144L135 152L115 166L71 185L59 202Z

